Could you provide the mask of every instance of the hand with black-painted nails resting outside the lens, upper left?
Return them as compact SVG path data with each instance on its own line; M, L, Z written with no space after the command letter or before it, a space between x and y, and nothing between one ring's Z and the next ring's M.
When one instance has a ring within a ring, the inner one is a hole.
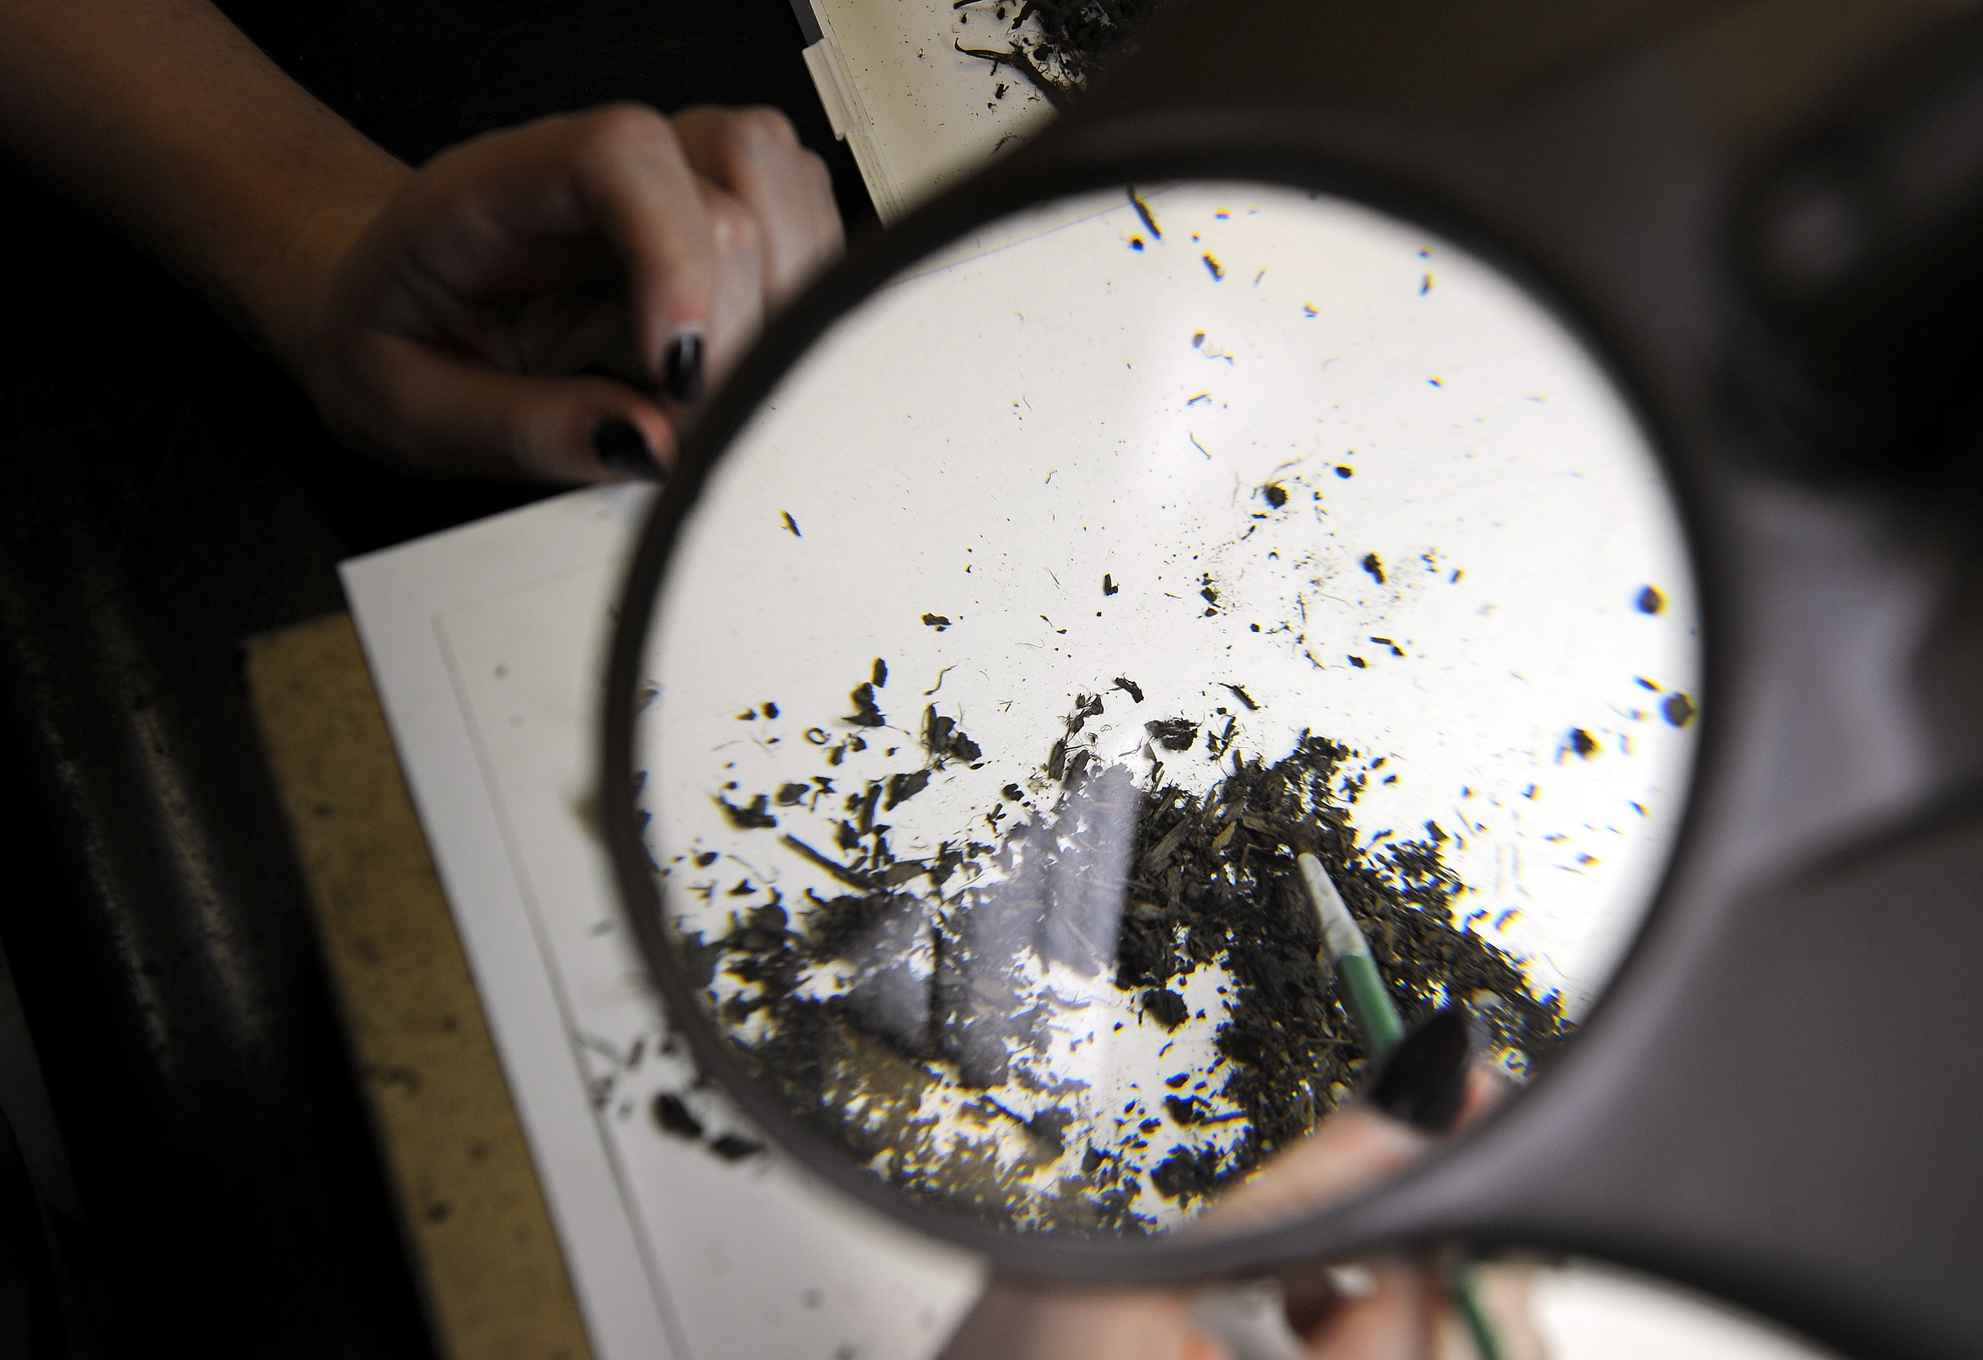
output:
M841 248L827 169L773 109L549 117L408 174L288 359L341 438L416 472L662 476Z

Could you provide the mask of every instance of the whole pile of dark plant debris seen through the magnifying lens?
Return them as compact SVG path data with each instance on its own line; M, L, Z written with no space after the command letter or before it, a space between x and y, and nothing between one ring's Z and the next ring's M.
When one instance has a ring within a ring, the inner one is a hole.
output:
M865 684L841 722L875 739L873 712ZM793 854L827 874L827 892L684 884L712 860L674 858L670 912L694 983L817 1132L906 1193L997 1225L1168 1229L1356 1082L1364 1053L1317 960L1303 850L1329 868L1408 1023L1463 1003L1507 1067L1547 1063L1569 1031L1561 1003L1456 924L1463 884L1442 862L1444 833L1358 839L1352 809L1374 761L1313 734L1273 763L1243 759L1231 722L1200 741L1196 722L1156 718L1138 775L1091 745L1071 751L1103 712L1103 696L1075 696L1035 773L978 809L978 833L918 858L894 854L876 815L936 797L932 777L984 757L934 706L922 749L898 747L922 757L916 769L724 799L752 858ZM1202 793L1146 787L1162 779L1158 755L1222 773ZM761 825L775 817L787 825Z

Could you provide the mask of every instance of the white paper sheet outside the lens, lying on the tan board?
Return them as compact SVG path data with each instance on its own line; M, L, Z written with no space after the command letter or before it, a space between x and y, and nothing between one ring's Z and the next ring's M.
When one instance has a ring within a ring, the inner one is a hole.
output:
M573 492L345 563L373 680L599 1360L920 1360L978 1263L771 1152L720 1156L761 1138L688 1088L619 928L595 734L646 506Z

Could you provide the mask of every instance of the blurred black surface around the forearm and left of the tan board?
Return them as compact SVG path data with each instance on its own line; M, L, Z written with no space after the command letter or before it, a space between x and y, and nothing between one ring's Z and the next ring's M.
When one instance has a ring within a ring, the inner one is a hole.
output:
M222 8L407 161L607 99L771 103L851 234L873 226L785 0ZM198 299L0 178L0 944L32 1039L0 1065L22 1134L0 1332L46 1356L430 1354L240 646L343 609L341 557L545 492L345 454Z

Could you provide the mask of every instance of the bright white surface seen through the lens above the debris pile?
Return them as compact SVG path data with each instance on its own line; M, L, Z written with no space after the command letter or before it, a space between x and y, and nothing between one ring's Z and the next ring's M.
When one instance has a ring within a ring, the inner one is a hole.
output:
M902 858L982 837L1075 694L1105 696L1097 753L1138 769L1150 718L1237 716L1237 747L1269 761L1311 728L1386 761L1364 841L1438 823L1459 912L1580 1013L1666 864L1693 747L1660 710L1699 660L1642 434L1576 341L1454 246L1287 190L1150 202L1162 238L1120 192L997 224L779 387L664 593L660 845L736 850L787 898L835 892L712 795L819 773L801 734L849 732L833 718L876 656L890 728L849 785L916 763L930 702L986 751L890 817ZM1658 615L1636 607L1648 585ZM738 722L767 700L779 720ZM1206 787L1220 767L1164 773ZM831 835L827 809L787 821Z

